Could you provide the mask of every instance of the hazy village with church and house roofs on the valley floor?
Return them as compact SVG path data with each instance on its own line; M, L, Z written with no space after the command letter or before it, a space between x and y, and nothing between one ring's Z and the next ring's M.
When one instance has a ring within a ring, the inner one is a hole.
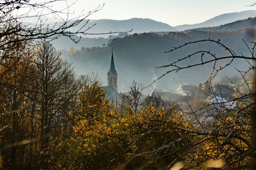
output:
M136 83L134 82L135 84L130 88L131 91L119 93L113 49L110 70L107 75L108 86L102 88L104 89L106 98L116 107L118 105L131 105L131 103L136 103L138 108L146 107L151 103L154 107L165 109L175 106L176 112L189 115L197 112L201 116L204 115L201 119L205 120L208 119L206 115L209 116L219 110L233 109L238 105L234 87L229 84L219 84L218 82L213 85L209 82L200 85L187 85L184 83L179 85L176 93L154 89L149 95L144 95L141 92L142 89L136 87Z

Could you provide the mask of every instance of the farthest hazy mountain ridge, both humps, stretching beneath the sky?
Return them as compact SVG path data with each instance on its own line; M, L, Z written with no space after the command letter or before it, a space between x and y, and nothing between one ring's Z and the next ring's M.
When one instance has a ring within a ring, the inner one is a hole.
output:
M89 20L88 23L87 23L88 20L83 20L81 22L81 25L87 24L86 28L84 29L87 29L88 27L93 27L93 28L87 31L87 33L89 34L81 35L81 36L87 37L87 38L98 38L98 37L108 38L109 34L100 34L100 33L110 33L110 32L121 31L121 32L129 32L129 34L134 34L134 33L140 34L144 32L184 31L184 30L195 29L195 28L221 26L227 23L235 22L237 20L244 20L249 17L256 17L256 10L247 10L247 11L241 11L241 12L221 14L207 21L204 21L203 23L197 23L192 25L181 25L181 26L175 26L175 27L172 27L167 23L163 23L163 22L148 19L148 18L131 18L127 20L100 19L100 20ZM56 21L57 19L58 18L56 18ZM50 23L46 22L45 25L49 24L49 26L52 26L52 27L56 26L55 23L52 23L53 18L49 18L48 20L47 17L44 17L43 20L45 22L51 21ZM23 20L22 22L29 23L29 20ZM63 22L58 22L58 23L57 25L61 25L61 23ZM31 24L30 26L33 27L33 24ZM79 30L79 28L80 28L79 26L76 26L70 31L75 32L75 30ZM112 35L117 36L118 33L112 34Z

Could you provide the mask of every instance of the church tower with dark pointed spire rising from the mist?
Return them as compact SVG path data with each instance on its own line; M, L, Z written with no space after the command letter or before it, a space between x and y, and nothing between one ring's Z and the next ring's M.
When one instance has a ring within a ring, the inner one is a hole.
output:
M114 63L113 48L112 48L110 70L108 71L107 75L108 75L108 86L113 87L117 91L117 72L116 72L115 63Z

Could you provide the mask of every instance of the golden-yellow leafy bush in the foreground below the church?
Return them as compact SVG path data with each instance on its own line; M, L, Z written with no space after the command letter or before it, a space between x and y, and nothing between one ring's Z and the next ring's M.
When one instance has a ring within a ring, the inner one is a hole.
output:
M139 114L134 114L129 107L124 108L122 113L116 111L105 100L88 103L88 91L92 90L86 89L79 96L83 100L79 108L82 113L75 116L74 133L65 142L68 145L67 153L71 155L67 162L72 164L76 160L73 164L78 167L82 161L86 164L84 168L93 164L90 167L104 169L110 164L108 168L113 169L119 161L130 159L134 154L156 149L157 145L162 144L163 138L169 140L179 137L181 133L172 130L173 126L189 128L180 115L177 119L166 118L166 112L161 108L154 108L153 104L140 110ZM90 114L92 119L87 118ZM113 161L108 161L103 168L97 167L101 165L93 162L100 161L104 165L105 160Z

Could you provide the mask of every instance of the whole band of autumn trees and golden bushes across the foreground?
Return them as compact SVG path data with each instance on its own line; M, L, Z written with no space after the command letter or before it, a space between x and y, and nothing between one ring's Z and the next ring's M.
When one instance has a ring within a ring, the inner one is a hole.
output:
M200 97L193 108L200 115L188 118L168 103L140 108L142 87L136 83L132 97L111 103L97 75L77 77L51 44L15 41L6 47L0 95L4 169L168 169L179 161L196 169L217 159L215 166L225 161L225 169L233 170L255 162L254 101L244 96L235 109L218 106L213 125L201 125L195 122L206 112L201 109L208 113L215 107L206 108ZM197 95L204 95L203 87Z

